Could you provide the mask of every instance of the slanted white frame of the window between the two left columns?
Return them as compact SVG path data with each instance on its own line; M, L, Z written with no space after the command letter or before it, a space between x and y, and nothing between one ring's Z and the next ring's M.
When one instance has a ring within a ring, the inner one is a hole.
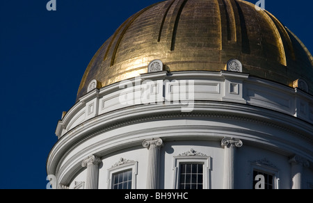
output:
M131 163L125 163L118 166L113 166L108 170L108 188L113 189L113 174L117 174L120 172L126 172L131 170L131 189L136 189L136 180L138 174L138 162L133 161Z

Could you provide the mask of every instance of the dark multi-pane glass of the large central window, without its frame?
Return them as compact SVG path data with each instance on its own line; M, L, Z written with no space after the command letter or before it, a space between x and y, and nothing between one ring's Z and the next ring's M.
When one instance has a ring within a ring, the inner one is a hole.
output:
M181 163L179 165L179 189L203 188L203 164Z

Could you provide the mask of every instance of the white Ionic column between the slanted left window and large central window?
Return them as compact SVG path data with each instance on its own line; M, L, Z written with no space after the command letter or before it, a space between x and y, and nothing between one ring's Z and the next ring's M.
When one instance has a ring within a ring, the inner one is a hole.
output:
M147 189L159 188L159 163L160 149L163 145L161 138L143 141L143 147L149 150L148 172L147 172Z

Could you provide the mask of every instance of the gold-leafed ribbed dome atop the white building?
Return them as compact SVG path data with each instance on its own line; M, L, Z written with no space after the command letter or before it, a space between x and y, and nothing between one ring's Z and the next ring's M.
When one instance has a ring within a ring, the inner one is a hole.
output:
M266 10L241 0L168 0L127 19L90 61L77 93L147 73L159 59L170 70L225 70L236 58L243 72L313 94L313 58L304 44Z

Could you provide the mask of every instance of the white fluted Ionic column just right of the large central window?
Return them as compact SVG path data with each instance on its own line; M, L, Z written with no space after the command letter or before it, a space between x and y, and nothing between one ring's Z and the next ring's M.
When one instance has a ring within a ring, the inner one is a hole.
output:
M225 148L224 188L234 189L234 163L236 156L236 147L241 147L242 142L239 139L223 138L221 145Z

